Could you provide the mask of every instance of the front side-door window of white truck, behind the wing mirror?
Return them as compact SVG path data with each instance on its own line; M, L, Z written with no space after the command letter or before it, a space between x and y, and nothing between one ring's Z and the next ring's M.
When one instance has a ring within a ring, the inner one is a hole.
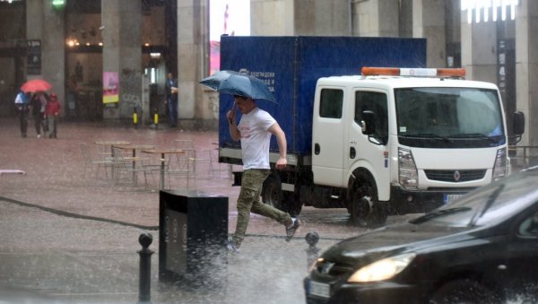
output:
M386 94L375 91L357 91L355 93L355 123L360 125L362 111L374 112L374 126L376 132L372 137L380 143L388 141L388 112L386 108Z

